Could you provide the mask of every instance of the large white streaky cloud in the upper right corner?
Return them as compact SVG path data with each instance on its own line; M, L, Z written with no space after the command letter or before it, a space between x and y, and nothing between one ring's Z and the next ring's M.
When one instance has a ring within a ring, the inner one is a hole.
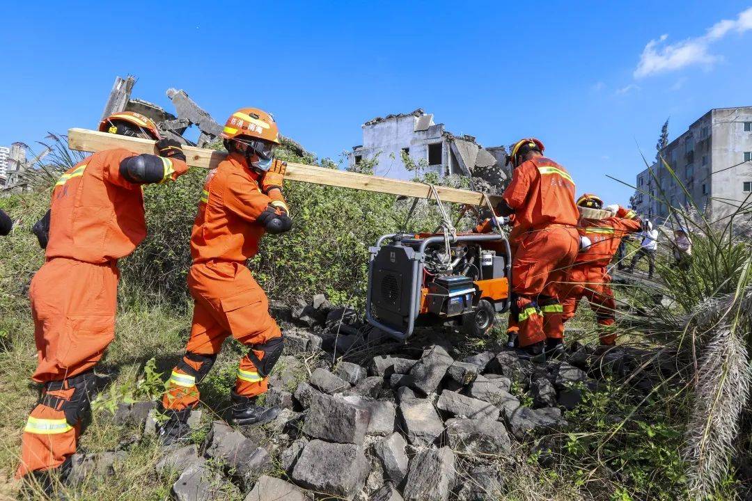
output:
M752 7L742 11L735 20L721 20L711 26L701 37L687 38L675 44L666 44L669 35L647 42L640 62L635 69L635 78L644 78L663 71L674 71L691 65L709 68L722 59L709 53L710 45L730 32L744 33L752 29Z

